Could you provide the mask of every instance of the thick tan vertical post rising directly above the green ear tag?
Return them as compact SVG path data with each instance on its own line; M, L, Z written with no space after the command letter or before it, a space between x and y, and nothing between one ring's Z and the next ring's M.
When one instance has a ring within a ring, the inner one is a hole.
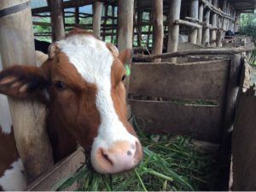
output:
M132 48L134 0L119 0L118 48Z

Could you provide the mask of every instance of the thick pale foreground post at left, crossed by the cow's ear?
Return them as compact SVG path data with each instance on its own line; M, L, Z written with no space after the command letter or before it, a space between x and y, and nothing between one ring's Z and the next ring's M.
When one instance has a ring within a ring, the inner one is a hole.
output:
M1 0L0 9L26 3L27 0ZM27 8L0 18L0 55L3 68L14 64L36 66L32 13ZM45 107L32 101L9 98L15 141L25 166L27 182L46 172L53 164L45 129ZM15 183L14 183L15 184Z

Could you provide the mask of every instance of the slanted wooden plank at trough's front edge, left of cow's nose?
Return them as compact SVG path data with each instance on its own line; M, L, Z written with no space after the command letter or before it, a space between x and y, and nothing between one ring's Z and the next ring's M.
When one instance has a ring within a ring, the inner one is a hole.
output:
M56 183L76 172L79 166L85 162L84 152L82 148L79 148L73 154L70 154L65 160L52 166L48 172L44 173L41 177L38 177L36 181L31 183L26 190L28 191L50 191ZM73 188L75 186L72 186ZM69 188L67 190L74 190Z

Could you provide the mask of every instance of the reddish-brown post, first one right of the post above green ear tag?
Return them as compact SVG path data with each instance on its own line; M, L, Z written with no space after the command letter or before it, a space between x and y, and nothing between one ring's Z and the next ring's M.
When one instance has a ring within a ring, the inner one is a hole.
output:
M153 49L152 54L161 54L164 41L163 0L153 1ZM160 62L161 59L154 60Z

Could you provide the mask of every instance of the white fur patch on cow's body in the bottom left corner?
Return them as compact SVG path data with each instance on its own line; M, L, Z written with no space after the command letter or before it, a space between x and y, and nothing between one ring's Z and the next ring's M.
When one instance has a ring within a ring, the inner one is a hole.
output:
M0 185L3 190L24 190L26 189L26 176L23 174L24 167L20 160L16 160L12 165L11 169L4 172L3 176L0 177Z

